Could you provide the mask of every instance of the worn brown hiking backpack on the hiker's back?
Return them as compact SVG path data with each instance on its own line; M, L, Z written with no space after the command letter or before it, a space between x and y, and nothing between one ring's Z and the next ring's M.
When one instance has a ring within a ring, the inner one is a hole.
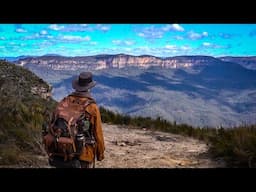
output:
M58 103L52 120L43 131L43 144L49 157L64 161L79 157L85 145L94 145L91 114L86 107L93 100L65 97Z

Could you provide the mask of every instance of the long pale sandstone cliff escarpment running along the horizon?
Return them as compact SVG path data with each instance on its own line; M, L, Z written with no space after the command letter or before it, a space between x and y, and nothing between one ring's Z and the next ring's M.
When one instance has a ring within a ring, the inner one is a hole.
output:
M18 65L36 64L53 70L99 70L108 68L140 67L148 68L160 66L164 68L187 68L200 66L218 61L238 63L249 69L256 69L256 57L221 57L210 56L176 56L160 58L151 55L132 56L96 55L84 57L65 57L55 54L47 54L40 57L22 56L14 62Z

